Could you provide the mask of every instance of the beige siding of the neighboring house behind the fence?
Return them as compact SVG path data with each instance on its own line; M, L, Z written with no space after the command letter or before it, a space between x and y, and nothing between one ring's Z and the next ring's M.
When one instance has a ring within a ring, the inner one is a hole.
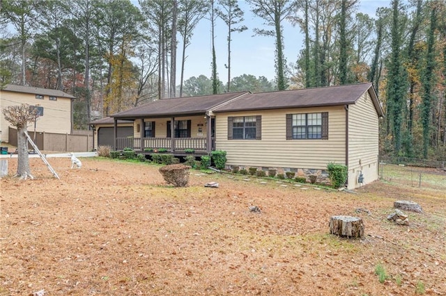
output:
M36 94L8 92L0 90L0 109L8 106L29 104L43 107L43 116L36 122L36 131L46 133L71 133L71 99L57 97L56 101L49 101L49 96L36 99ZM1 141L8 142L8 126L10 123L3 114L0 116ZM29 123L28 130L34 130L34 123Z

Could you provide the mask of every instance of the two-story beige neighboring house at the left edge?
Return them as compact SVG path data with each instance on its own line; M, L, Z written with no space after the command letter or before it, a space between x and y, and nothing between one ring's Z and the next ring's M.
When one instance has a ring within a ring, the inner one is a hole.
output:
M36 126L37 132L71 133L73 99L75 97L61 90L8 84L0 90L0 109L3 110L8 106L29 104L38 108L39 113L36 124L29 124L29 130L34 130L34 126ZM10 122L1 113L1 142L9 142L9 126L11 126Z

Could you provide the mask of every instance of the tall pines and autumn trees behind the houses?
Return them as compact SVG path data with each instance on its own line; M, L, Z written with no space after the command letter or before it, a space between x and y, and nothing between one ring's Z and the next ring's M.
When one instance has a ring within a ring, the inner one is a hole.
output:
M392 0L376 18L358 0L246 0L275 42L275 81L231 77L231 34L247 30L236 0L0 1L1 85L75 95L75 129L154 99L250 90L263 92L371 81L385 110L380 154L446 160L446 3ZM199 22L212 32L212 71L184 77ZM216 22L227 49L215 48ZM305 36L284 58L284 22ZM180 44L180 48L178 48ZM229 53L217 72L215 55ZM177 54L178 52L178 54ZM176 77L177 63L180 77ZM249 71L249 69L247 69ZM364 122L367 124L367 122Z

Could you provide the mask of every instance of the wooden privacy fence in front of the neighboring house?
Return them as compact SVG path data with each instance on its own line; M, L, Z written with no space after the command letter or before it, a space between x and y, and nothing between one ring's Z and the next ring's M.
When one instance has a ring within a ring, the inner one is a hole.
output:
M17 129L9 128L9 144L17 146ZM40 151L82 152L93 150L93 132L77 131L79 134L45 133L28 131ZM83 133L83 134L82 134ZM29 145L29 149L32 149Z

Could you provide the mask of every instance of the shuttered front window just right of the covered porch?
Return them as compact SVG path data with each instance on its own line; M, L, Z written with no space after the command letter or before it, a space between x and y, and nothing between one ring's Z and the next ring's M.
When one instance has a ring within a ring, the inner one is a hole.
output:
M261 140L261 120L260 115L228 117L228 140Z

